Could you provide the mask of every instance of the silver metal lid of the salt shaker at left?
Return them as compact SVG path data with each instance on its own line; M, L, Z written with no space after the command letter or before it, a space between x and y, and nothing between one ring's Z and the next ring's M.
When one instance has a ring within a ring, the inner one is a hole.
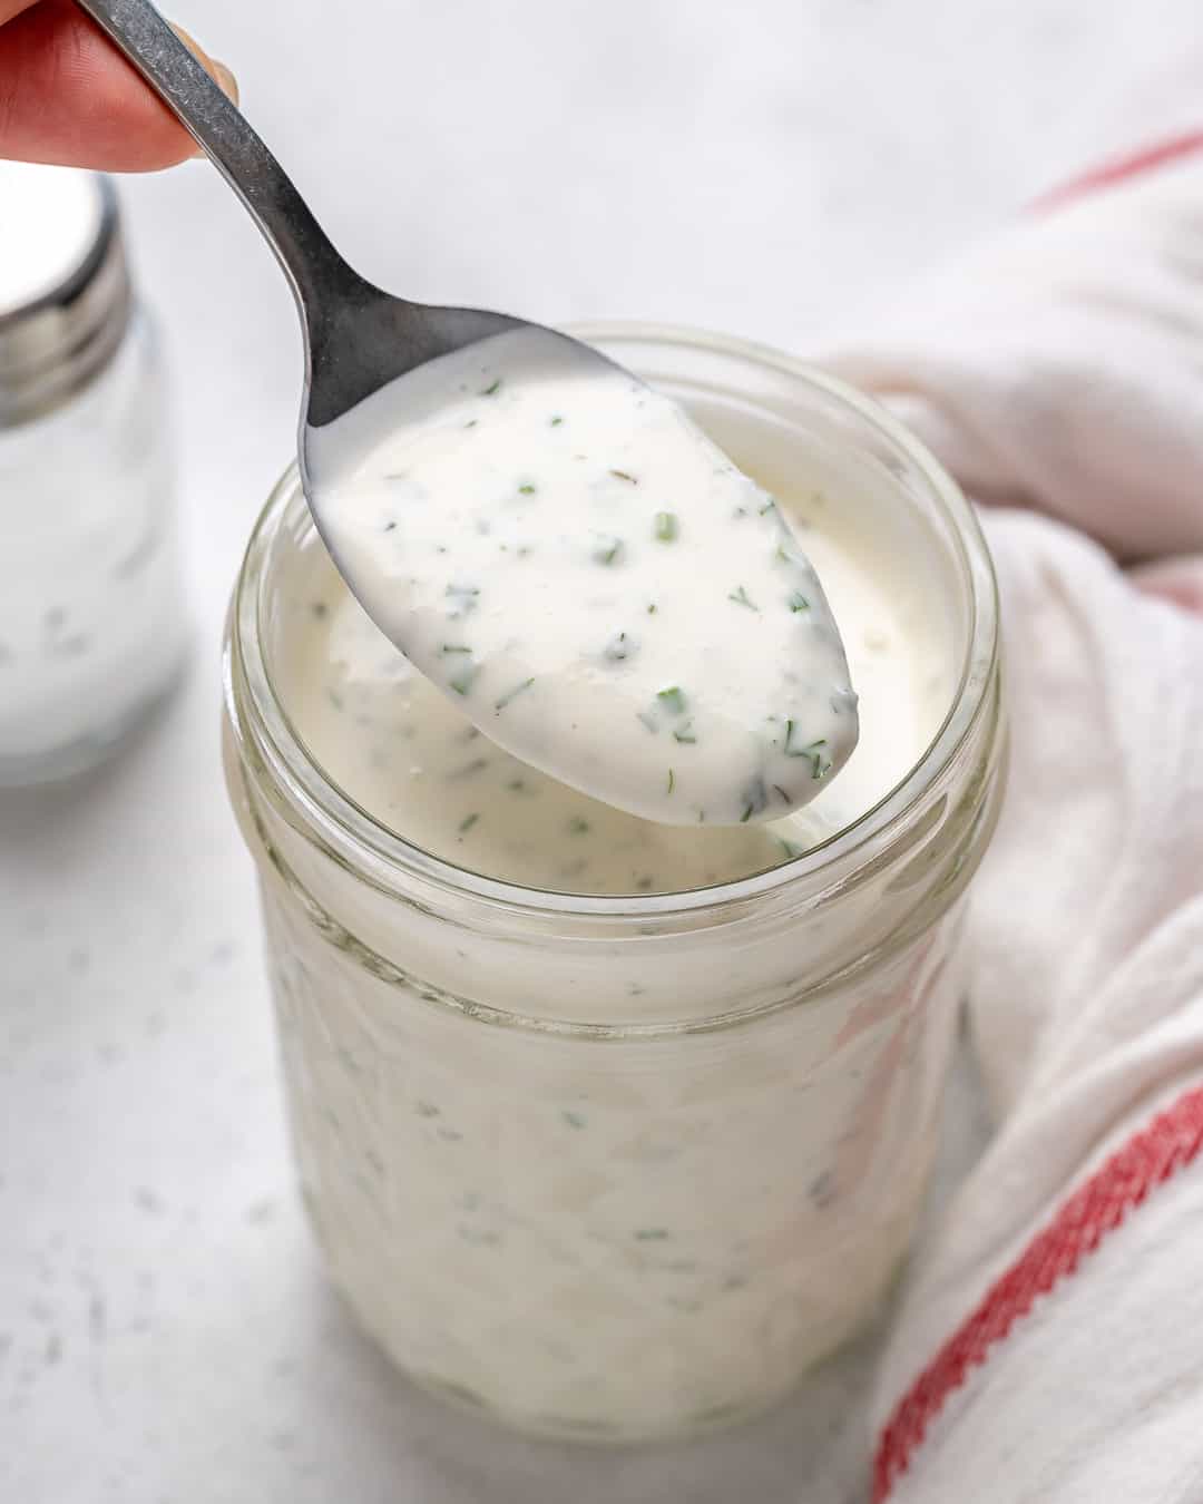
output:
M54 412L93 381L129 313L111 182L0 162L0 429Z

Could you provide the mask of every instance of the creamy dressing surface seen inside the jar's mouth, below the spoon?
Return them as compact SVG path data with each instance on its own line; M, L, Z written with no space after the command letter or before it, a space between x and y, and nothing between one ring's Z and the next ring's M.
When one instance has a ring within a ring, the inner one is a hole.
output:
M561 892L668 893L776 866L899 782L932 735L944 687L940 675L932 680L941 648L931 612L881 559L832 534L839 498L829 505L811 487L782 493L779 505L823 573L854 680L865 686L860 743L839 781L783 820L653 823L520 763L402 657L320 553L283 602L281 692L313 755L361 808L489 877ZM687 764L684 749L665 743L660 778L672 797Z

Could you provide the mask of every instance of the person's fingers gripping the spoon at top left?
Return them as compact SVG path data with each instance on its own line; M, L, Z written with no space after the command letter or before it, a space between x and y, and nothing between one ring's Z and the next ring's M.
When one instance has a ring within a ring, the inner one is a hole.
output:
M183 41L236 98L229 69ZM0 156L152 171L194 152L171 111L71 0L39 0L0 27Z

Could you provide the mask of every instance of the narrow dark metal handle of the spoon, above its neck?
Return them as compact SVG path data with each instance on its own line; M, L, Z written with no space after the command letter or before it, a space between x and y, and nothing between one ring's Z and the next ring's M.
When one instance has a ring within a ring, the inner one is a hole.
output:
M247 117L149 0L77 0L117 44L244 202L284 268L307 334L358 277Z

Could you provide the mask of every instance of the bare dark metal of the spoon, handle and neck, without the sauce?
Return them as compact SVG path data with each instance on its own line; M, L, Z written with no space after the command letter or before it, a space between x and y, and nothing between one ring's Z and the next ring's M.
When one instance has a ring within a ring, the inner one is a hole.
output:
M78 5L208 152L284 269L305 341L299 460L311 508L316 495L310 477L317 435L382 387L441 355L498 334L534 329L555 341L561 359L579 361L582 373L614 370L614 362L589 346L523 319L480 308L409 302L365 281L334 248L241 110L149 0L78 0ZM317 508L314 520L322 531ZM353 581L347 584L355 588Z

